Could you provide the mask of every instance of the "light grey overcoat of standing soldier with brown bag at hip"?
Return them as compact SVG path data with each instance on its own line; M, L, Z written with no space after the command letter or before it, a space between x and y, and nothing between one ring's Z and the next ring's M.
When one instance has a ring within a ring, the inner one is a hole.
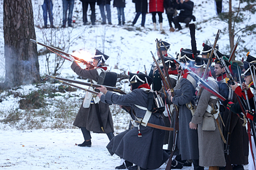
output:
M209 80L208 84L218 91L218 85L214 81ZM215 120L215 130L202 130L203 117L205 115L208 105L217 103L216 99L211 99L212 93L203 89L200 99L198 101L196 112L192 118L192 123L198 124L198 146L199 146L199 166L219 166L226 165L224 157L223 141L218 130L218 126ZM212 119L214 119L212 117ZM221 123L220 116L218 116L218 122Z

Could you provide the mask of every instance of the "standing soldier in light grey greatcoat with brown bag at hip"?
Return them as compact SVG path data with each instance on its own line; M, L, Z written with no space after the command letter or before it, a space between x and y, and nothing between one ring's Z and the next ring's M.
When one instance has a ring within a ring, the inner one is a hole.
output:
M208 59L196 56L196 73L202 77ZM203 68L202 68L203 67ZM214 78L208 77L207 83L218 92L218 85ZM221 118L218 116L216 104L218 98L211 92L203 89L200 95L196 112L190 122L191 129L198 129L199 165L207 166L209 170L217 170L226 165L224 146L219 130ZM220 108L218 106L218 108ZM221 128L221 127L220 127Z

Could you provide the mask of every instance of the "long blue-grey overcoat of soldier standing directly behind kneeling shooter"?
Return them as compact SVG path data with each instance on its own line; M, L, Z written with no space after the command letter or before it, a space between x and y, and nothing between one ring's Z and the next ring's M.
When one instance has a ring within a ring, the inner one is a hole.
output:
M179 154L181 154L181 160L197 160L199 159L197 130L190 129L189 123L192 114L186 106L186 103L193 99L196 90L192 83L185 78L181 79L180 85L180 89L174 90L175 96L173 97L173 103L179 106L179 131L176 144Z

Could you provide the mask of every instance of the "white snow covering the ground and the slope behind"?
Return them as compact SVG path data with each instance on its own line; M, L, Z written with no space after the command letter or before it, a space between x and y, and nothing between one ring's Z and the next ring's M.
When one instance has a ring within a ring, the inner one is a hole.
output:
M215 40L215 35L218 29L222 30L218 45L220 51L224 54L229 54L229 39L227 23L221 21L215 12L215 1L198 0L194 1L193 14L196 16L196 40L198 50L202 50L202 43L211 43ZM3 4L3 0L0 0ZM169 24L166 14L163 13L163 29L161 34L159 30L153 31L153 23L151 14L147 14L145 28L139 27L141 17L139 17L136 27L131 27L133 18L135 17L135 4L131 1L126 1L125 8L125 26L117 26L117 9L111 5L112 23L113 25L101 25L101 16L99 7L96 5L96 26L83 26L82 22L82 3L75 0L74 7L74 28L60 28L62 26L62 1L55 0L53 7L54 25L57 29L41 29L43 26L42 9L38 6L38 1L32 0L36 40L47 45L61 47L65 52L72 54L74 51L86 51L90 55L94 55L95 48L109 55L110 58L106 64L109 70L121 73L128 71L133 73L144 71L144 65L149 72L150 64L153 59L150 51L156 55L155 39L162 39L171 43L170 55L175 56L181 48L191 48L190 31L185 28L185 24L181 23L182 29L179 32L169 32ZM111 2L112 4L113 2ZM242 4L243 5L243 4ZM237 7L237 1L233 1L233 6ZM223 10L228 11L228 1L223 1ZM88 21L90 22L90 10L88 9ZM158 19L157 19L158 21ZM48 21L49 22L49 21ZM245 23L255 23L255 17L251 17L249 21L237 25L237 30L242 28ZM174 25L173 25L174 26ZM3 28L3 8L0 8L0 28ZM159 29L159 23L157 23ZM247 47L251 51L251 55L255 56L255 35L252 33L239 33L242 36L243 42L237 47L241 51L243 47ZM237 36L235 37L236 40ZM0 29L0 81L5 78L5 61L4 61L4 38L3 29ZM43 49L38 45L38 51ZM237 60L240 60L247 52L237 54ZM49 70L53 73L55 55L50 55ZM46 64L46 55L39 56L40 74L44 77L48 73ZM59 77L75 78L77 75L70 68L71 62L65 61L64 65L57 72ZM81 65L82 66L82 65ZM82 66L84 67L84 66ZM48 86L46 83L44 86ZM58 86L55 84L53 86ZM129 86L123 80L118 84L126 92L129 92ZM25 95L32 90L38 90L36 85L24 85L20 89L12 89L11 92L20 92ZM0 103L0 120L8 116L9 111L22 110L19 109L20 97L10 95L4 97L10 91L3 91L0 96L3 100ZM58 103L60 100L65 100L67 104L74 101L81 104L80 98L84 97L84 92L77 90L68 94L60 94L62 96L48 98L47 102ZM69 95L75 96L70 98ZM75 103L75 102L74 102ZM54 112L57 106L49 106ZM77 112L74 110L74 112ZM112 105L112 114L115 128L115 135L124 131L128 126L129 117L124 112L120 112L118 106ZM24 119L31 118L30 112L24 112ZM34 119L36 120L36 119ZM22 121L14 125L9 123L0 123L0 167L2 169L114 169L118 166L120 159L117 155L111 156L106 145L108 143L107 135L92 133L92 147L84 148L77 147L76 143L83 142L81 130L74 127L71 123L65 123L66 128L52 128L52 124L58 121L57 118L47 117L46 122L42 124L42 128L33 129L29 125L23 124ZM24 121L23 121L24 123ZM18 130L20 129L20 130ZM167 146L164 146L167 148ZM159 169L164 169L166 164ZM186 167L184 169L192 169ZM208 169L208 168L205 168ZM245 166L248 169L248 166Z

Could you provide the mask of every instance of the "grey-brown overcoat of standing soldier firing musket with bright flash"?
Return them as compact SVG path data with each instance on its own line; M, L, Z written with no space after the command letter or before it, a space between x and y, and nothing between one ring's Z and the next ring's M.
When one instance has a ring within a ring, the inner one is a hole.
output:
M97 73L96 69L82 69L76 62L72 63L71 68L77 75L80 75L81 77L95 81L99 79L99 74ZM100 128L96 106L99 106L104 132ZM95 133L108 134L114 132L113 119L109 110L109 104L99 102L99 105L90 104L89 108L83 108L82 103L73 125L76 127L85 127L87 130Z

